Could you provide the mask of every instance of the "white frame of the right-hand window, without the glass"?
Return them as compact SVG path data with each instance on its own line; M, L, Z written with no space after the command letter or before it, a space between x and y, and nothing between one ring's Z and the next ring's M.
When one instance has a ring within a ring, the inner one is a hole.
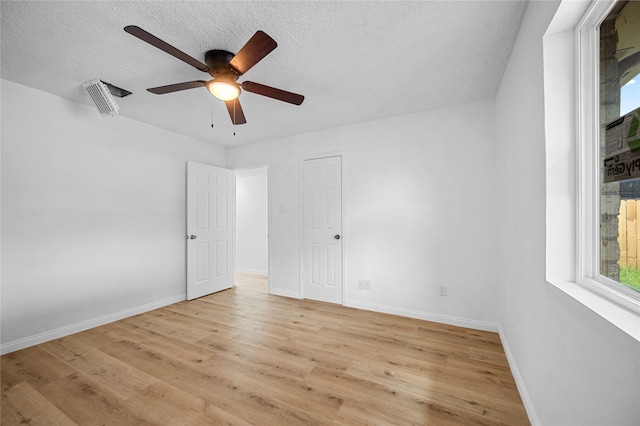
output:
M599 296L640 314L640 294L600 274L599 26L615 3L615 0L594 1L575 31L578 70L576 281Z

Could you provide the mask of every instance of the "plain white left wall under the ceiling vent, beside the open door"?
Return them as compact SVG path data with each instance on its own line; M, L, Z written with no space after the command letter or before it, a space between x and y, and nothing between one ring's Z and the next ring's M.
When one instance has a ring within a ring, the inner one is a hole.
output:
M5 80L1 136L4 352L184 299L185 162L224 150Z

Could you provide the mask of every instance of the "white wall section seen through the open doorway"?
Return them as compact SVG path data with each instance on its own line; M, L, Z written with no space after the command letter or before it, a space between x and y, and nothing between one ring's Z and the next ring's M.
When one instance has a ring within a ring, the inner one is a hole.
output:
M236 172L236 271L268 273L267 168Z

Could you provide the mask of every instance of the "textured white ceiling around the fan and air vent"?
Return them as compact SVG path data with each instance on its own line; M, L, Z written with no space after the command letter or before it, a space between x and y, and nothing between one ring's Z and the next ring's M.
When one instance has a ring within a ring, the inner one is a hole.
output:
M133 92L120 114L223 146L408 114L495 96L521 1L2 1L1 76L93 105L82 83ZM305 95L294 106L243 92L233 136L204 88L148 87L208 74L123 31L137 25L204 62L263 30L278 47L239 81ZM97 112L96 112L97 114ZM111 118L113 120L119 119ZM214 127L211 128L213 120Z

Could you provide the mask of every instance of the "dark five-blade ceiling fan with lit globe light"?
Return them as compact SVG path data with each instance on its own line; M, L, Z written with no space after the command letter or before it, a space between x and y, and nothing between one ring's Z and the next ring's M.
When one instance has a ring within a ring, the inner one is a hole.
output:
M304 96L297 93L287 92L286 90L276 89L275 87L265 86L264 84L254 83L252 81L243 81L241 84L236 82L240 76L249 71L249 69L278 46L275 40L263 31L257 31L235 55L226 50L209 50L204 55L205 63L203 64L140 27L129 25L124 27L124 30L169 55L186 62L192 67L209 73L209 75L213 77L213 79L208 81L187 81L147 89L156 95L194 89L196 87L206 87L213 96L224 101L233 124L245 124L247 122L242 107L240 106L240 100L238 99L241 91L240 88L247 92L256 93L294 105L300 105L302 101L304 101Z

